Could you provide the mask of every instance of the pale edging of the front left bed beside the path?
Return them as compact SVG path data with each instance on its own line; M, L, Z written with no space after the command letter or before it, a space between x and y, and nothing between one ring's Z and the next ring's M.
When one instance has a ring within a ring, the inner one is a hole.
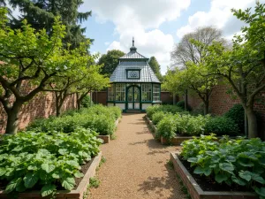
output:
M87 191L87 186L89 185L89 179L95 176L96 167L100 164L102 159L102 152L94 157L91 165L89 166L85 176L80 181L79 186L72 191L67 190L57 190L57 199L83 199L84 193ZM0 198L8 199L10 195L4 194L4 191L0 191ZM25 193L19 193L19 199L43 199L49 198L49 196L42 197L40 191L30 191Z

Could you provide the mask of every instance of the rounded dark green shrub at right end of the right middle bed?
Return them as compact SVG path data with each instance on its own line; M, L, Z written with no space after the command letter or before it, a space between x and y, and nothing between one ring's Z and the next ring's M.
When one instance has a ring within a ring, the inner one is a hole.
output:
M217 135L238 135L239 127L232 119L223 116L214 117L208 119L205 132L208 134L215 133Z

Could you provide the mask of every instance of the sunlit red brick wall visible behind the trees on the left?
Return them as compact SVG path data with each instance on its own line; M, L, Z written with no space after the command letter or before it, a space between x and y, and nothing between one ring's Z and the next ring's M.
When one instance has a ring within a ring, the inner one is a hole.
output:
M76 97L67 97L62 107L62 111L76 108ZM48 118L56 114L55 96L53 93L38 94L30 102L23 105L19 112L19 129L25 128L28 123L38 118ZM0 103L0 133L4 133L6 124L6 113Z

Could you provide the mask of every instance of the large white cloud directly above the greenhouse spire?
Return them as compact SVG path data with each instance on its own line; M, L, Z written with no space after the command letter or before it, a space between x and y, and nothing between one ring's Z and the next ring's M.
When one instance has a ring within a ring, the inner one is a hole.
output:
M162 72L170 65L170 50L174 44L171 34L164 34L159 26L165 21L177 19L186 10L190 0L85 0L80 11L92 10L98 22L111 21L119 40L110 43L107 50L125 52L135 46L143 56L155 56Z

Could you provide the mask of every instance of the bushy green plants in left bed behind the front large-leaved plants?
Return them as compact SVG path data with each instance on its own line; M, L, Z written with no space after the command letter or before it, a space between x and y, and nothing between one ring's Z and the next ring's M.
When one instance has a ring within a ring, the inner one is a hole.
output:
M120 116L121 110L118 107L94 105L60 118L36 119L27 126L27 130L71 133L78 127L84 127L102 135L111 135L115 131L115 120Z

